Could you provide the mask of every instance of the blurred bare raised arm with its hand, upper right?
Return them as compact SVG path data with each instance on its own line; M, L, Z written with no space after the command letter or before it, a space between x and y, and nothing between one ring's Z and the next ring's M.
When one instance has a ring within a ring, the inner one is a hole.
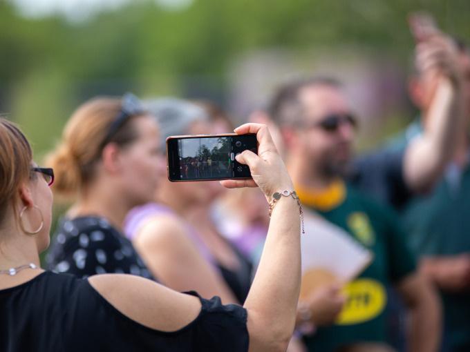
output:
M424 133L411 142L404 156L404 179L415 192L429 190L440 179L455 153L465 119L458 50L437 29L429 31L417 44L416 66L426 88L436 88L429 110L422 112Z

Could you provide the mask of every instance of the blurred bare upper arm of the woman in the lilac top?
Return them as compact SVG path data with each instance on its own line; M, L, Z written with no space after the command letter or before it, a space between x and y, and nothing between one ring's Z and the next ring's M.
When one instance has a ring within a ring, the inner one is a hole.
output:
M238 303L223 277L200 255L185 226L171 215L157 215L140 229L133 244L158 280L176 291L219 296Z

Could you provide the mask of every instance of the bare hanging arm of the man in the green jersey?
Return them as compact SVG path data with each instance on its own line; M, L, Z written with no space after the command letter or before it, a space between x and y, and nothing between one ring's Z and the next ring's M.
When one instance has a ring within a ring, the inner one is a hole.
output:
M397 285L409 310L408 351L438 351L442 333L441 306L435 289L422 275L412 274Z

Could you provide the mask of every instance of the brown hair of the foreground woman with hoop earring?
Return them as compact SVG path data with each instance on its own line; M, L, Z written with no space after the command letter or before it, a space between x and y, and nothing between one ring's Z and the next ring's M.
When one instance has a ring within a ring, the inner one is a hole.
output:
M0 224L8 206L16 205L21 182L31 175L31 163L28 139L15 124L0 117Z

